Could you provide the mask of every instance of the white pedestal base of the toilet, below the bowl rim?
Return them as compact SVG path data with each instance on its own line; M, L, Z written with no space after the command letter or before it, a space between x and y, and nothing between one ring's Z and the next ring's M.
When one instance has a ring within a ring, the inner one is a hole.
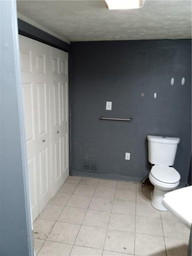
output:
M164 198L164 194L170 192L171 190L160 190L157 187L154 187L154 190L151 191L151 205L160 211L167 211L167 209L162 205L162 200Z

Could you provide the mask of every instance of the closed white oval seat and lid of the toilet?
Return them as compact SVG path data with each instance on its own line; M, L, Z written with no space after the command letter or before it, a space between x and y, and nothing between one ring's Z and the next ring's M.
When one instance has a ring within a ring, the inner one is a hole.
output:
M154 165L150 173L156 180L169 184L177 183L181 178L180 174L169 166Z

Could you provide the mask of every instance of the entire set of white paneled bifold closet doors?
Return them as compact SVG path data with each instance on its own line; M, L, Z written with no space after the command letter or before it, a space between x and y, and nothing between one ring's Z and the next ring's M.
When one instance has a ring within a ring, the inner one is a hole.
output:
M68 54L24 36L19 43L34 221L69 174Z

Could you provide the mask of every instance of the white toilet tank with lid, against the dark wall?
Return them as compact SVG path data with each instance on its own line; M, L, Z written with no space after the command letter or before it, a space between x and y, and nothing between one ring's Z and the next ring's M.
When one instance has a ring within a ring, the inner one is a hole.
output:
M147 136L148 160L151 164L172 166L175 161L179 138Z

